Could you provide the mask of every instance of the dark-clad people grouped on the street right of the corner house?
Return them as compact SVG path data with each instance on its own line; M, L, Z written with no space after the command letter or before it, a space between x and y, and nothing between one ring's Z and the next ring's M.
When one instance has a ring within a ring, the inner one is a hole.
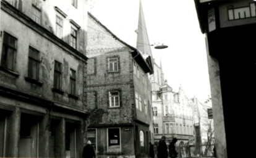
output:
M175 143L177 142L177 138L173 138L173 140L169 143L169 146L167 146L165 140L166 140L166 137L162 136L160 141L158 142L158 146L156 148L157 158L168 158L168 151L169 151L169 157L176 158L178 154L175 149ZM151 158L155 158L153 149L154 149L153 144L150 143Z

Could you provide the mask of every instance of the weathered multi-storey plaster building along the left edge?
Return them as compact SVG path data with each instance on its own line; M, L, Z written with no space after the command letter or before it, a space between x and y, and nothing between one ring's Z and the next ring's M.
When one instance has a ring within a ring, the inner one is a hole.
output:
M80 157L87 1L1 0L0 157Z

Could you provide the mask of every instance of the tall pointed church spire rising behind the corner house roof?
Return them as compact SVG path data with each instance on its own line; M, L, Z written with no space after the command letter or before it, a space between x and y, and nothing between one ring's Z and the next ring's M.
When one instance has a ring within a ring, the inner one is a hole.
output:
M140 10L139 10L139 22L138 22L138 28L137 28L136 48L142 51L143 54L147 54L153 57L151 48L150 48L150 42L148 39L148 33L147 33L146 23L144 19L141 0L140 0Z

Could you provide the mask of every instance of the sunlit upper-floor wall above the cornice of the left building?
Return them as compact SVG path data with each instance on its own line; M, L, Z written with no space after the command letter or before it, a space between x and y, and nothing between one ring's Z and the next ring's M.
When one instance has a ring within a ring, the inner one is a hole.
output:
M32 4L35 4L36 0L19 0L19 5L22 3L19 10L26 14L28 17L32 18ZM7 0L12 4L12 0ZM41 2L41 23L40 25L47 30L51 31L56 35L56 15L61 17L63 20L63 40L66 43L70 42L70 28L74 27L70 20L73 20L81 28L78 30L78 46L77 50L85 54L86 48L86 32L87 32L87 0L77 0L77 7L72 6L71 1L40 1ZM54 9L57 6L64 14L64 17L59 12ZM81 16L82 15L82 16Z

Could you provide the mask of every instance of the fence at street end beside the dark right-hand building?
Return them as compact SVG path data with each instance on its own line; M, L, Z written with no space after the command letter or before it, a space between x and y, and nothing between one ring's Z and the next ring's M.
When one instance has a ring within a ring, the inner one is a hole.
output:
M215 142L205 142L202 144L179 144L176 146L176 151L179 153L178 158L192 157L214 157L213 148Z

